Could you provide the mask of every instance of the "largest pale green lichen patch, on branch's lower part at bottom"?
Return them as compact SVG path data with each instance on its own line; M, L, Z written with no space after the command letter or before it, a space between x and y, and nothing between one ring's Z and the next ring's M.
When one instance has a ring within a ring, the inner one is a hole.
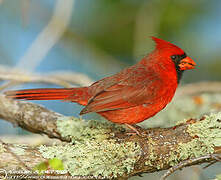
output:
M117 177L130 173L140 156L140 147L115 140L78 142L52 147L40 146L44 158L58 158L72 176Z

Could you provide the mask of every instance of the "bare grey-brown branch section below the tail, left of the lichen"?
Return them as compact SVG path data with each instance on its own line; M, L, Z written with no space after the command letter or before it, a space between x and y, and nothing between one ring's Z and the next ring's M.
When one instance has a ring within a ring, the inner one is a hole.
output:
M0 95L0 118L27 131L67 140L57 131L56 121L64 117L44 107L24 101L14 101ZM70 141L70 139L69 139Z

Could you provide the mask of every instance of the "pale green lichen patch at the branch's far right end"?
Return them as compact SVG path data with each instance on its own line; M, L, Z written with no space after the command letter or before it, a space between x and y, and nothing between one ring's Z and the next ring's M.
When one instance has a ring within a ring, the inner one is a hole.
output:
M214 153L215 146L221 146L221 113L205 116L205 119L189 124L187 132L194 137L187 143L179 143L171 151L168 162L171 166L178 162Z

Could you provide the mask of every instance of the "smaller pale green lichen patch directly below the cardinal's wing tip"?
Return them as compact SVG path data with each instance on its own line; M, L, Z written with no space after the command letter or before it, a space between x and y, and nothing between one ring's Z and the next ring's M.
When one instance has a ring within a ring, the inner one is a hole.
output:
M57 128L62 137L71 137L75 142L107 139L111 136L111 129L117 129L120 126L109 122L95 120L85 122L82 119L68 117L57 120Z

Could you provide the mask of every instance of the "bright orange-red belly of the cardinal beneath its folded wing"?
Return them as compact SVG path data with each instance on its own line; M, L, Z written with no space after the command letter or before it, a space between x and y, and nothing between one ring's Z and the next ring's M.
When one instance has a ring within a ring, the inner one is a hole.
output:
M98 113L114 123L136 124L154 116L156 113L162 110L167 104L168 102L143 104L127 109L118 109L118 110L104 111Z

